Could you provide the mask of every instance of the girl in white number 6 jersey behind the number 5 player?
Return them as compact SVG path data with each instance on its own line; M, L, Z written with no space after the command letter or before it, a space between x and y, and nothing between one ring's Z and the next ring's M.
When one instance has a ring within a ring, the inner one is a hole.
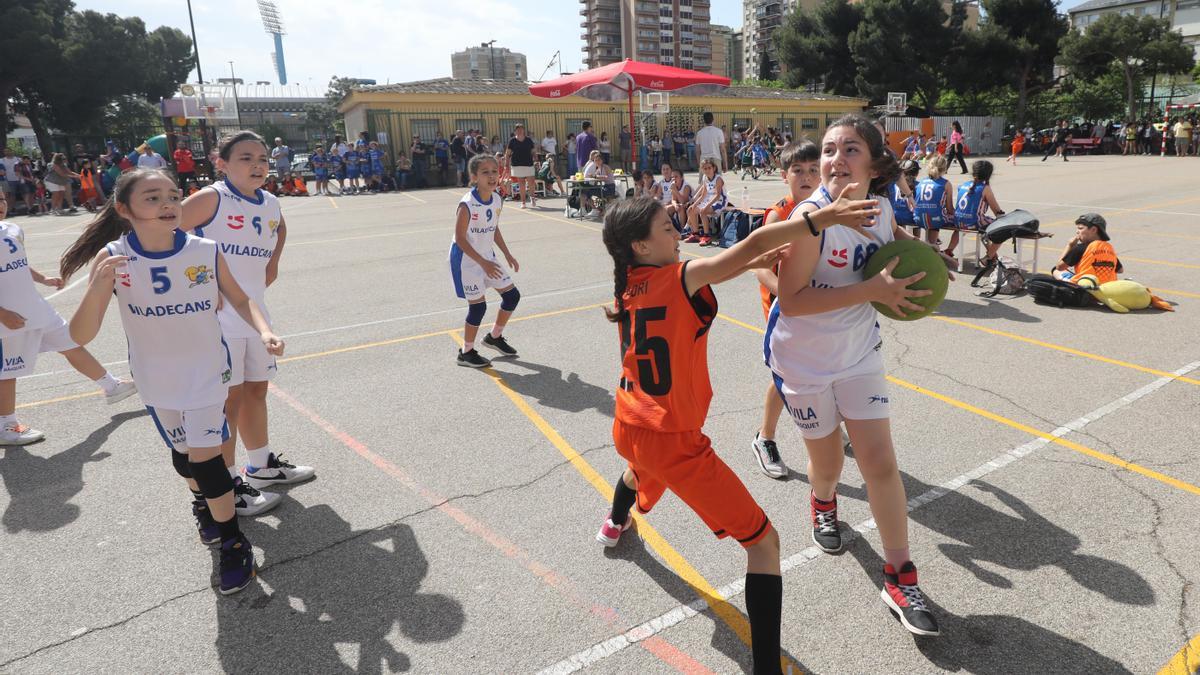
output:
M185 199L179 223L184 232L194 231L217 243L229 273L268 321L266 288L278 276L287 239L278 199L262 190L269 159L266 143L253 131L222 141L217 168L224 180ZM238 514L258 515L280 502L278 495L258 490L308 480L316 471L288 462L270 446L266 389L277 369L258 330L228 304L217 309L217 318L233 364L224 406L229 438L221 453L236 486ZM239 435L246 447L246 466L240 472L235 462Z

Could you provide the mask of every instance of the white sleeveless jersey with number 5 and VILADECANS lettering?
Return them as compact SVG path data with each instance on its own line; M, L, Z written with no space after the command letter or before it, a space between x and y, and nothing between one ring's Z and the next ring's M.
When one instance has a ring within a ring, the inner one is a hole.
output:
M114 292L142 400L179 411L221 405L232 372L217 319L216 243L176 231L169 251L145 251L131 232L108 252L130 258Z

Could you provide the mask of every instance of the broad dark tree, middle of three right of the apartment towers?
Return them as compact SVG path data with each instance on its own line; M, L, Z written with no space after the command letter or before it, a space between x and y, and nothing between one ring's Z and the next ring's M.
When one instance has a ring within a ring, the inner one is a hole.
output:
M863 22L850 36L858 91L874 101L911 91L932 114L955 42L949 19L938 0L865 0Z

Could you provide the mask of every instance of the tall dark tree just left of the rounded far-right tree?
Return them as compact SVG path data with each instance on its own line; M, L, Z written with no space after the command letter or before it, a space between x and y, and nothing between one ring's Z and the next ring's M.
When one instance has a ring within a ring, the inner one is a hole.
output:
M1030 96L1051 86L1058 42L1069 30L1056 0L983 0L982 54L1016 91L1014 119Z

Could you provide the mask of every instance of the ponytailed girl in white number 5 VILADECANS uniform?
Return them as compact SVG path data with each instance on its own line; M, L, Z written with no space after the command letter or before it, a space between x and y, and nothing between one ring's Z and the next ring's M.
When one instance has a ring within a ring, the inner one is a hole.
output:
M160 169L128 172L61 267L66 279L91 264L88 292L71 319L76 342L96 336L116 295L133 381L192 490L200 542L221 546L220 591L229 595L254 578L254 554L238 526L233 478L221 456L230 370L221 298L258 331L254 340L264 351L280 356L283 341L238 285L217 244L178 229L182 215L170 177Z

